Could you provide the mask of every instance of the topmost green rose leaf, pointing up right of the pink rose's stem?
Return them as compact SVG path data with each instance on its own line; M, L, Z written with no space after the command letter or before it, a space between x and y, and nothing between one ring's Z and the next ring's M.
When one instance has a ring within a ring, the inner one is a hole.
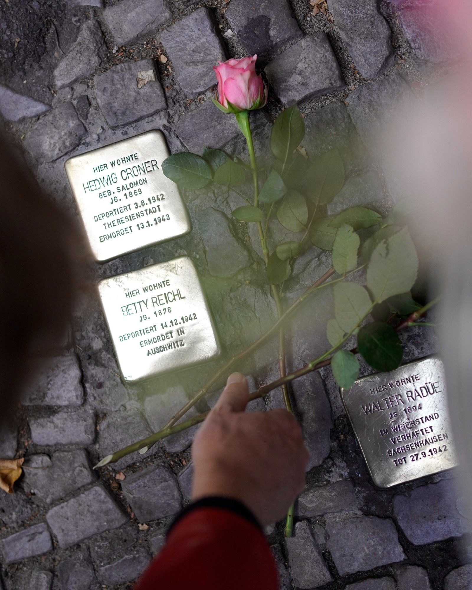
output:
M304 135L305 123L296 104L278 115L270 134L270 149L283 166L291 160Z

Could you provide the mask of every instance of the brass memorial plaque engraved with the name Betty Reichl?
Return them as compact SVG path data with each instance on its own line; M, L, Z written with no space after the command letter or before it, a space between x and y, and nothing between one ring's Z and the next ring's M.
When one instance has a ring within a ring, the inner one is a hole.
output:
M106 278L98 289L125 381L181 369L219 354L190 258Z

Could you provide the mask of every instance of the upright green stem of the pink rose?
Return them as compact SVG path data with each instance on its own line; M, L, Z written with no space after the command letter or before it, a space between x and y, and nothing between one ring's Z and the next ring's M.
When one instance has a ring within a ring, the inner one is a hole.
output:
M242 111L241 113L237 113L235 115L236 120L238 122L238 126L241 129L242 135L244 135L247 147L249 151L249 159L251 161L251 171L253 172L253 183L254 183L254 207L259 206L259 173L257 169L257 161L255 159L255 152L254 152L254 143L253 143L253 135L251 133L251 124L249 121L249 112ZM267 219L268 224L268 219ZM261 241L261 248L264 257L264 262L267 264L269 261L269 250L267 247L267 238L266 234L264 234L262 224L260 221L257 221L257 231L259 234L259 239ZM280 293L278 292L276 285L271 285L272 294L274 300L276 301L277 306L277 316L280 317L283 315L283 306L282 301L280 299ZM286 376L286 355L285 355L285 330L283 327L280 328L278 333L279 339L279 347L278 347L278 371L280 373L280 378L284 378ZM289 388L287 387L287 383L283 383L282 385L282 394L284 398L284 404L287 408L287 411L290 414L293 414L293 408L291 407L290 397L289 397ZM294 512L294 505L290 506L289 512L287 513L287 520L284 529L284 535L286 537L291 537L292 535L292 526L293 526L293 512Z

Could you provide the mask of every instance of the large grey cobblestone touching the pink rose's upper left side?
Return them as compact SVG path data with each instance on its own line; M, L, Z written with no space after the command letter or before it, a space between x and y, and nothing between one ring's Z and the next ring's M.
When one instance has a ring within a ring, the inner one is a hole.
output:
M197 8L159 37L185 94L196 96L215 86L213 66L225 61L226 54L218 25L207 8Z

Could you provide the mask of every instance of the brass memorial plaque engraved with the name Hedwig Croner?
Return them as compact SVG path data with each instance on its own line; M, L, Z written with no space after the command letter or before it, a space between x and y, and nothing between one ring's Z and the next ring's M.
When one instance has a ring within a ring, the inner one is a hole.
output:
M162 162L168 156L162 133L148 131L65 162L97 261L191 230L178 188L162 172Z

